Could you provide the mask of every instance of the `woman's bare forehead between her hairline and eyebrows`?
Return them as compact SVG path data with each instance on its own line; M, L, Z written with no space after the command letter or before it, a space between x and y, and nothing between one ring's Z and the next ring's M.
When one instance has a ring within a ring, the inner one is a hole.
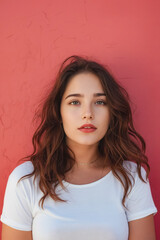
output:
M79 73L73 76L66 87L65 93L70 91L83 91L83 92L95 92L101 90L103 92L103 87L100 79L93 73Z

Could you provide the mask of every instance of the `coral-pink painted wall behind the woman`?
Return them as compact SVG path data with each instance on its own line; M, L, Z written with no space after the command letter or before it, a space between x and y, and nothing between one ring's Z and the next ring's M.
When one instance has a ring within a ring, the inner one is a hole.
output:
M108 65L128 90L147 144L159 202L160 2L15 0L0 3L0 208L11 170L32 150L32 118L62 60L88 55ZM159 213L155 216L160 236Z

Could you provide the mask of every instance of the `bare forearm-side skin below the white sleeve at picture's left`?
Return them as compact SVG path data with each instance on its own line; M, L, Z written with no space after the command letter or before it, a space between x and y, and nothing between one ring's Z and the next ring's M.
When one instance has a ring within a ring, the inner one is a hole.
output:
M32 231L21 231L2 223L1 240L32 240Z

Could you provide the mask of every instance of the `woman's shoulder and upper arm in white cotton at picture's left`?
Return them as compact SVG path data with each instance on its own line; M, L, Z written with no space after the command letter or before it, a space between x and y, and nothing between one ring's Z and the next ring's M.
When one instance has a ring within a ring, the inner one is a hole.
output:
M32 229L32 214L35 202L35 188L33 178L21 177L33 172L33 165L30 161L24 162L14 168L9 175L5 195L1 221L8 226L30 231Z

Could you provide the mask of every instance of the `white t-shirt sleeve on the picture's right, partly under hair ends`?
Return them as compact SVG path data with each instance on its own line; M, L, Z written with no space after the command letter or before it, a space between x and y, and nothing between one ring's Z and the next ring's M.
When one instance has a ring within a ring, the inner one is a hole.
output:
M146 171L141 168L141 174L146 181ZM144 183L138 176L135 175L135 184L129 193L126 200L126 215L128 222L136 219L146 217L150 214L156 214L157 208L153 202L149 180Z

